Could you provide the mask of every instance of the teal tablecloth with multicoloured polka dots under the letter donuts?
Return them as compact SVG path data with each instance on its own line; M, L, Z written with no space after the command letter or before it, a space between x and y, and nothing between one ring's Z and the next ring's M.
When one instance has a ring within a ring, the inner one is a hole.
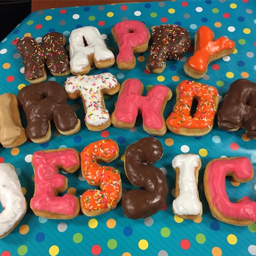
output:
M121 71L117 66L108 70L91 70L89 74L111 72L121 83L127 78L139 78L144 85L143 95L156 84L164 84L173 93L177 84L191 78L183 70L186 59L193 53L194 36L202 26L211 28L215 37L227 36L236 42L233 54L210 63L207 74L199 82L218 89L220 105L230 83L239 78L256 82L256 2L255 1L167 1L151 3L116 4L105 6L84 6L49 9L31 13L0 43L0 94L17 92L27 85L23 72L22 58L16 50L15 38L32 36L39 43L49 31L63 33L67 39L72 30L83 26L95 26L102 34L109 49L115 56L118 47L111 34L111 28L122 20L140 20L151 30L160 24L177 24L188 30L192 39L190 51L179 61L167 61L161 74L148 74L145 60L148 52L136 55L136 68ZM11 18L11 17L10 17ZM53 77L48 80L63 84L67 77ZM106 109L114 111L117 95L105 97ZM175 93L168 101L164 117L172 113L176 101ZM142 129L142 118L138 115L136 125L131 130L110 126L101 132L87 130L83 118L84 110L80 99L69 100L69 104L82 121L79 133L72 136L60 135L52 125L51 140L44 144L26 142L15 148L0 148L0 162L12 163L23 187L29 204L34 193L32 154L37 150L59 147L72 147L77 151L91 142L103 138L114 139L120 148L119 158L109 165L120 170L123 191L133 189L127 180L123 167L125 148L140 138L147 137ZM20 110L23 124L25 114ZM29 208L27 214L8 237L0 240L0 255L256 255L256 224L233 226L217 221L212 217L203 190L203 174L206 164L215 158L227 156L246 156L256 168L256 142L246 137L245 131L222 131L215 120L210 133L202 137L183 137L170 131L160 140L164 154L155 164L165 174L169 193L165 206L157 214L146 219L127 219L118 203L116 209L97 217L79 214L72 220L51 220L36 217ZM201 157L202 168L199 173L199 196L203 203L203 215L193 220L183 220L174 215L176 174L172 159L182 153L195 153ZM90 185L81 176L81 170L74 174L63 173L68 178L68 190L79 197ZM256 201L256 178L250 182L237 183L226 179L226 189L232 202L243 196Z

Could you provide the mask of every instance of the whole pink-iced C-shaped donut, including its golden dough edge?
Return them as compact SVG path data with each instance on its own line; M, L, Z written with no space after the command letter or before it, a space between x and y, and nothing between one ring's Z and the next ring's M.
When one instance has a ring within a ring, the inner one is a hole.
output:
M229 200L225 177L232 176L237 182L248 182L253 178L253 167L247 157L217 158L205 167L204 193L212 216L217 220L248 226L256 221L256 202L243 197L238 202Z

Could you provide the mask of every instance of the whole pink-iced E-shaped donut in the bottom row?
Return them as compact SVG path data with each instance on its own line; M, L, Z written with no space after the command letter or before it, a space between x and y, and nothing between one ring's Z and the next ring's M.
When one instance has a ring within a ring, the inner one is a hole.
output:
M61 168L74 173L80 167L79 153L73 148L36 151L32 155L35 190L30 200L34 214L47 219L72 219L80 211L79 199L70 194L58 196L68 187L68 179L58 173Z

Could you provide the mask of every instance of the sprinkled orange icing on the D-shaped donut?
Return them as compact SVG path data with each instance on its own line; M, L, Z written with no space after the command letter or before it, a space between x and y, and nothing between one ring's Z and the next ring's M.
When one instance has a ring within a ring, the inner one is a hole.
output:
M167 125L180 127L202 129L210 127L214 121L217 111L214 97L219 96L215 87L207 86L195 81L182 81L178 88L180 98L177 99L174 112L166 120ZM197 110L194 116L190 116L193 99L198 100Z

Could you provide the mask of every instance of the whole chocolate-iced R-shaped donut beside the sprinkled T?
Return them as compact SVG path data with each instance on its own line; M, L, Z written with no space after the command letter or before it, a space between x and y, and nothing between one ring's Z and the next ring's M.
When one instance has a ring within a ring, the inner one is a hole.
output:
M30 84L19 90L17 98L26 114L26 134L34 143L51 139L51 120L62 135L79 132L80 120L67 103L65 89L57 82Z

